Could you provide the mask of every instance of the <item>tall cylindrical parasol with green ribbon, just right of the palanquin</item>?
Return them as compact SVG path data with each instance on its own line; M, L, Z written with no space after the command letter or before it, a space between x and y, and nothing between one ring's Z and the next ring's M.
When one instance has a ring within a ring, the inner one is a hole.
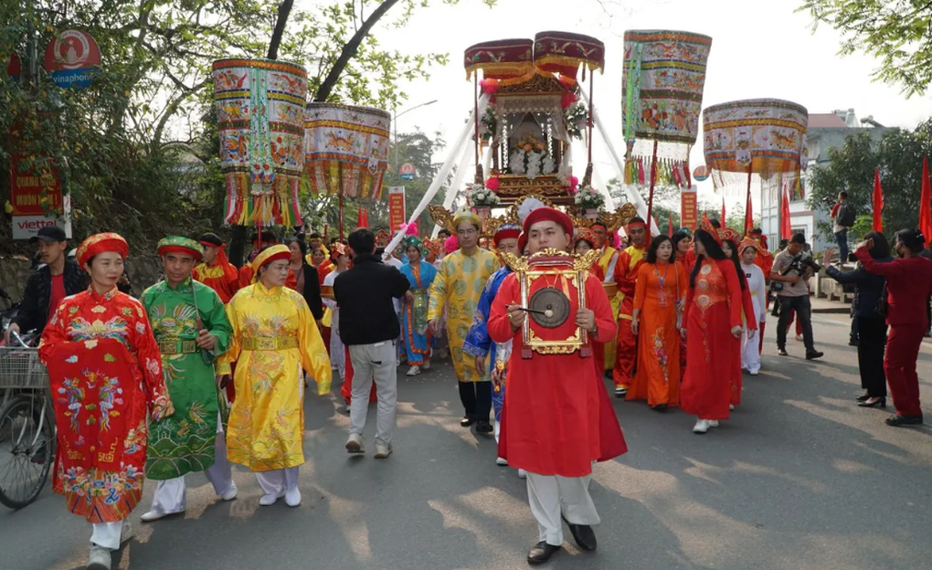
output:
M711 37L691 32L624 33L624 182L645 183L650 177L648 224L658 178L691 185L690 149L698 134L711 46Z

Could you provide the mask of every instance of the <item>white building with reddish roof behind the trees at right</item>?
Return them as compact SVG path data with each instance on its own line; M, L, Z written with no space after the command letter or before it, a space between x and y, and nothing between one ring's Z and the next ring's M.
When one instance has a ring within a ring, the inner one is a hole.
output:
M829 162L829 149L841 148L845 139L860 132L870 132L870 137L879 140L888 128L873 120L873 116L858 121L854 109L809 115L809 167L803 174L802 193L791 194L789 201L790 225L794 234L803 234L816 251L833 245L834 237L818 232L818 222L828 222L827 211L816 211L809 207L808 189L813 169ZM779 226L780 195L777 188L761 190L761 229L767 236L771 250L780 242Z

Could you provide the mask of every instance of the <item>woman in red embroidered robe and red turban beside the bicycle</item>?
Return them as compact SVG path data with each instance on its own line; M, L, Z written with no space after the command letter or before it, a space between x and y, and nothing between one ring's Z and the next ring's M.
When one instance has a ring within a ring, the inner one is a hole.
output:
M42 333L58 447L52 488L93 524L89 568L109 569L143 495L146 414L171 415L158 344L143 305L117 291L129 246L98 234L77 248L87 292L62 300Z

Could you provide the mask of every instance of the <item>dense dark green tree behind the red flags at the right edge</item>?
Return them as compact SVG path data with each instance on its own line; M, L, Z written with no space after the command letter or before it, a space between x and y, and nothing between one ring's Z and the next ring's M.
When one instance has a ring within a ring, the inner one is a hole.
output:
M884 189L884 233L892 236L900 229L915 228L919 207L929 207L919 204L925 156L932 156L932 120L913 130L890 129L879 140L867 132L848 137L842 148L829 151L827 164L810 169L809 207L828 212L844 190L859 215L870 214L876 167ZM856 224L854 234L858 227L870 230L870 222ZM831 223L820 223L817 231L830 237Z

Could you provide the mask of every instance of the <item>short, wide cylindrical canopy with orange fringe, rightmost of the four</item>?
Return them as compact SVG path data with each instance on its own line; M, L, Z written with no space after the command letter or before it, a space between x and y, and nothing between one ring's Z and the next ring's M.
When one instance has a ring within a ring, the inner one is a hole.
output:
M703 112L706 166L716 187L747 178L783 174L799 179L806 168L809 113L794 102L751 99L707 107ZM733 181L727 173L738 173Z

